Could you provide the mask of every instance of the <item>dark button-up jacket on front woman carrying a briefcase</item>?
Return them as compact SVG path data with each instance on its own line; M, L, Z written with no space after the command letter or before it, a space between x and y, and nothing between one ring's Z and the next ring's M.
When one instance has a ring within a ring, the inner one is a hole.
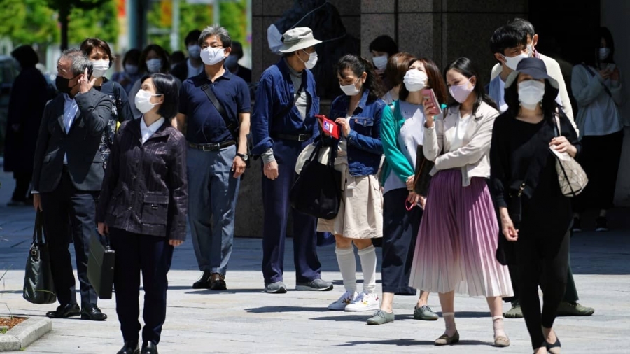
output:
M166 120L142 144L140 121L123 122L116 133L97 222L183 241L188 212L186 138Z

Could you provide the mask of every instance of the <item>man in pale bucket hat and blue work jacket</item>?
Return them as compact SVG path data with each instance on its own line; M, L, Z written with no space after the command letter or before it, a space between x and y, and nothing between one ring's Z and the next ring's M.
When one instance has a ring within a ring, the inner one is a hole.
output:
M316 115L319 97L312 69L317 62L315 45L321 43L308 27L297 27L283 35L282 59L260 77L252 114L253 155L260 155L262 204L262 274L265 291L284 293L284 244L290 209L289 191L295 181L295 162L319 134ZM331 290L321 279L316 253L316 218L293 210L293 260L295 290Z

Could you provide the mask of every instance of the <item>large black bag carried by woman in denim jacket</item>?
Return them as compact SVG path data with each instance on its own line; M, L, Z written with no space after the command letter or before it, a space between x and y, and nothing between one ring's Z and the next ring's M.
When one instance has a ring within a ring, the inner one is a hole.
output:
M289 192L291 206L300 213L319 219L332 220L341 204L341 172L335 170L335 148L326 164L318 161L322 143L318 142L297 176Z

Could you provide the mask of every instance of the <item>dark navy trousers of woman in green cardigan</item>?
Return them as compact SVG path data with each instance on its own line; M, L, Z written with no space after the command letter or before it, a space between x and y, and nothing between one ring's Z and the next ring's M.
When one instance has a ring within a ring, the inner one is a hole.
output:
M416 295L416 289L409 287L409 276L422 209L416 206L407 211L408 195L405 188L390 190L385 193L383 204L383 292L397 295Z

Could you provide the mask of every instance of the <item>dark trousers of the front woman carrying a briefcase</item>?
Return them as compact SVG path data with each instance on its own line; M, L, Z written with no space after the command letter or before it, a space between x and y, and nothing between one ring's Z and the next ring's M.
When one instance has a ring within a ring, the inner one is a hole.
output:
M166 319L167 274L171 268L173 246L166 237L134 234L109 229L111 248L116 251L116 313L125 341L137 341L141 329L140 274L144 286L144 329L142 340L160 343Z

